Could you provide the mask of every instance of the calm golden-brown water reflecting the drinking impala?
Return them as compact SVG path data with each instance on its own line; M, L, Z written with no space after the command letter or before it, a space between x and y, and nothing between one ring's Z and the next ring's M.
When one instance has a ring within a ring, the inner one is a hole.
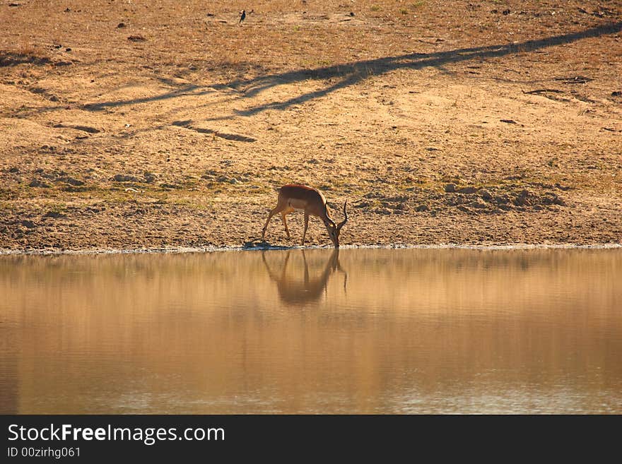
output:
M3 413L622 413L622 250L0 257Z

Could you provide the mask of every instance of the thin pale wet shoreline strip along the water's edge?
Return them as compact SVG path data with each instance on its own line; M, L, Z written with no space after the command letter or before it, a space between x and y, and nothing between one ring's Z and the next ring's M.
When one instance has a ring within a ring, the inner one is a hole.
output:
M332 246L175 246L170 248L143 248L143 249L75 249L75 250L48 250L48 249L0 249L0 258L4 256L86 256L86 255L113 255L113 254L188 254L188 253L216 253L223 251L287 251L287 250L317 250L333 249ZM503 250L557 250L557 249L622 249L622 243L604 244L389 244L389 245L345 245L339 250L352 249L465 249L478 251Z

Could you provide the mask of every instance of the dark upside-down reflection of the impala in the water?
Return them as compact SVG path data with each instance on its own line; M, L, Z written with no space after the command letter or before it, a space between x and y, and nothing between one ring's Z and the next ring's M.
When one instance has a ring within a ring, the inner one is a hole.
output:
M341 270L341 272L344 273L344 291L346 290L348 273L341 268L341 264L339 263L339 249L335 249L332 252L326 266L324 267L324 270L322 270L322 273L312 277L309 275L309 265L307 264L305 251L303 250L303 261L305 263L305 275L303 280L293 278L291 275L287 274L287 266L291 253L291 251L287 252L280 274L270 268L268 262L266 261L266 252L262 253L264 265L266 266L268 275L276 283L278 296L281 297L281 301L285 303L306 303L317 301L322 296L322 292L326 290L331 274L336 270Z

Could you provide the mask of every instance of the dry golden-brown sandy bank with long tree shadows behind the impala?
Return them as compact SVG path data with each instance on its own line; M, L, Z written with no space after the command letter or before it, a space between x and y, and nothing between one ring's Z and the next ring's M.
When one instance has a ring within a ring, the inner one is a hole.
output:
M622 242L618 1L2 0L0 23L5 251L243 246L288 182L348 200L343 244ZM299 243L289 218L269 242Z

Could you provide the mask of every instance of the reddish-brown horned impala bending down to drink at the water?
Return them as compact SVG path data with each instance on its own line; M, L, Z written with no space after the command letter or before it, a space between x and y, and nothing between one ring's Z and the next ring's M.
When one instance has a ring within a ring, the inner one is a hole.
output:
M346 203L348 203L346 201ZM304 211L305 213L305 231L303 232L303 246L305 244L305 236L307 235L307 227L309 227L309 216L317 216L320 218L326 230L328 231L331 242L333 242L335 248L339 248L339 234L341 233L341 227L344 227L348 221L348 213L346 213L346 203L344 203L344 220L335 224L331 219L328 208L326 206L326 198L322 193L312 187L306 185L288 184L284 185L278 191L278 199L276 206L272 208L266 220L266 225L262 230L262 240L266 234L268 223L272 216L277 213L281 213L281 219L283 220L283 226L285 226L285 233L287 238L291 238L289 229L287 228L287 221L285 216L292 211Z

